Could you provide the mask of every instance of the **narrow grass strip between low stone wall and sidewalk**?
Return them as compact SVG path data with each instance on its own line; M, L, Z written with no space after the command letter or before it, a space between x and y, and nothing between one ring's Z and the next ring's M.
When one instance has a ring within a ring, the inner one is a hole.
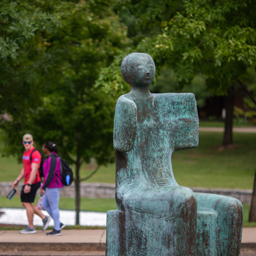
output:
M38 197L35 202L37 202ZM18 196L14 196L10 201L6 197L0 197L0 208L21 208L20 198ZM249 211L250 205L243 204L244 207L244 227L256 227L256 222L248 222L249 219ZM75 210L75 199L61 197L59 208L61 210ZM116 210L116 202L115 199L112 198L81 198L81 211L94 211L94 212L107 212L109 210ZM71 227L70 228L78 228ZM0 227L1 230L1 227Z

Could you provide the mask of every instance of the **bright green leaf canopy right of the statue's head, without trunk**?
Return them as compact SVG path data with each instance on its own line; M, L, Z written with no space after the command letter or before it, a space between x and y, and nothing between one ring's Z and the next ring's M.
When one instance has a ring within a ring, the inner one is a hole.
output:
M256 61L256 5L244 0L190 0L182 7L170 20L162 20L166 27L161 34L145 38L138 49L150 53L158 67L175 70L180 84L190 83L200 72L208 77L212 92L225 94Z

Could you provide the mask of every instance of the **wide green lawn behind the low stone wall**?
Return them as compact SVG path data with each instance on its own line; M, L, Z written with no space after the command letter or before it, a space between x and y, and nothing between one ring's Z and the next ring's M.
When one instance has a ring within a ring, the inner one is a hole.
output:
M175 152L174 177L181 186L252 189L256 167L256 134L234 133L235 148L219 151L223 134L200 132L197 148ZM21 164L13 157L0 158L0 181L14 181ZM81 167L81 177L92 170ZM115 183L115 164L101 166L86 182Z

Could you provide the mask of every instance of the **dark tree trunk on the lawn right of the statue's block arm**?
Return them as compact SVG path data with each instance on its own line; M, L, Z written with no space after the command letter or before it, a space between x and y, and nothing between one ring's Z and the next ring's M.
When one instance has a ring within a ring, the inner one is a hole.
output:
M226 98L226 118L225 118L225 132L223 139L223 146L233 144L233 109L234 109L234 86L229 86L228 96Z

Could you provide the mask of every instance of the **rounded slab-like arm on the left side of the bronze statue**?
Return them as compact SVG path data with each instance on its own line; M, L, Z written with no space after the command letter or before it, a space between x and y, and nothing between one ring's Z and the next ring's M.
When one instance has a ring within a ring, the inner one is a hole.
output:
M137 107L122 95L116 103L114 121L114 148L116 151L131 151L137 132Z

